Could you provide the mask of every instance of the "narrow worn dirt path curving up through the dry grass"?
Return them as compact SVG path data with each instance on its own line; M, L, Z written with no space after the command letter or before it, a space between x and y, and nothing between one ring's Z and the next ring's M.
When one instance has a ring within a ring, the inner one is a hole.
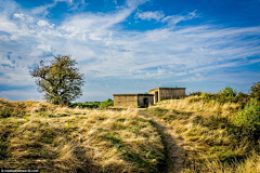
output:
M145 110L140 110L139 112L145 117L152 118L153 124L160 134L165 145L166 162L159 168L159 172L181 172L181 170L185 168L185 151L181 147L182 141L178 138L178 135L164 120Z

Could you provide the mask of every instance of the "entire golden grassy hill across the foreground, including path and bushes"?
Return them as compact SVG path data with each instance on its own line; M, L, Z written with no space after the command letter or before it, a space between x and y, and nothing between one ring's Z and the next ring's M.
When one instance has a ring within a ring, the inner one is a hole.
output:
M198 94L122 111L0 99L0 168L260 172L259 103L217 96Z

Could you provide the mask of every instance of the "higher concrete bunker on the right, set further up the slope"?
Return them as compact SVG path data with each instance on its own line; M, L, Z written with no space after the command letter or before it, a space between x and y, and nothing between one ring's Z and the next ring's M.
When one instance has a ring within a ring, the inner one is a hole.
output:
M185 96L186 88L156 88L150 90L150 94L154 95L154 103L162 99L182 98Z

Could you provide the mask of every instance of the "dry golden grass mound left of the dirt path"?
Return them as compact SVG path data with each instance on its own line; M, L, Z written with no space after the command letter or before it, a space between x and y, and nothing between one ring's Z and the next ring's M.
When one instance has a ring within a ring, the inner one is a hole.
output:
M157 172L160 136L134 110L70 109L0 99L0 168Z

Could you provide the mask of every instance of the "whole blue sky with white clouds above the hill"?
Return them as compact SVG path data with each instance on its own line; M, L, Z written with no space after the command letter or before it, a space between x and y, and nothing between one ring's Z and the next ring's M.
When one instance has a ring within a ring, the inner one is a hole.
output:
M0 0L0 97L42 99L34 64L69 54L78 102L157 86L186 93L260 81L259 0Z

